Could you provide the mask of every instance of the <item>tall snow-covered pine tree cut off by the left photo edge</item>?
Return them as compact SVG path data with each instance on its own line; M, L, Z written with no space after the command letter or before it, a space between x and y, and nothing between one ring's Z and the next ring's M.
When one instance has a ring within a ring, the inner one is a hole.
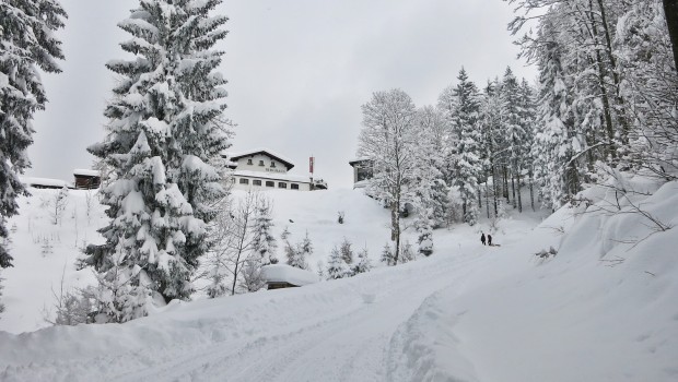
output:
M28 195L19 175L31 167L33 115L47 103L39 71L61 71L56 59L63 53L54 32L66 17L58 0L0 2L0 267L12 266L3 244L5 219L19 213L16 198Z

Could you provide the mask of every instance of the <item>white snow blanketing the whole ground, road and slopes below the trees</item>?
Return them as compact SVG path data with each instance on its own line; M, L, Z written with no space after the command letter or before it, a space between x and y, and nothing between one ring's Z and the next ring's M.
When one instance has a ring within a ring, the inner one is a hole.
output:
M665 184L643 211L678 225L677 191ZM40 310L65 264L67 285L92 282L71 264L105 223L101 206L85 224L86 195L71 191L77 212L55 226L40 206L55 192L35 190L10 223L1 381L678 380L678 231L652 234L641 214L512 214L493 235L501 247L480 244L488 222L459 225L435 231L431 258L348 279L173 302L121 325L15 334L46 325ZM308 231L312 266L343 237L374 260L388 239L387 211L360 191L270 195L277 234L287 226L299 241ZM45 236L56 239L44 255ZM535 255L550 247L557 255Z

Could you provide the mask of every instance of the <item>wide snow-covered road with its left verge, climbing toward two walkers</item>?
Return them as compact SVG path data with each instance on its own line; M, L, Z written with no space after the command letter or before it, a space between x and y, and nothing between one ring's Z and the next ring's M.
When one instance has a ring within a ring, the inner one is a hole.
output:
M369 277L177 305L164 314L98 331L80 326L26 334L36 341L20 336L16 346L27 344L22 351L34 357L30 365L10 360L14 366L1 379L411 380L422 362L418 357L425 355L407 348L408 322L440 290L463 290L481 259L478 253L441 254L375 270ZM44 343L43 336L54 337L51 351L30 348Z

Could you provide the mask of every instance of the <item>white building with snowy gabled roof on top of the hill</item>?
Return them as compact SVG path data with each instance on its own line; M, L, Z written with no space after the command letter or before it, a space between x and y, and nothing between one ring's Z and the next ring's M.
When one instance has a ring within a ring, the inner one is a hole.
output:
M287 189L295 191L326 190L323 179L289 174L294 164L270 150L257 148L243 153L226 153L233 169L233 188L237 190Z

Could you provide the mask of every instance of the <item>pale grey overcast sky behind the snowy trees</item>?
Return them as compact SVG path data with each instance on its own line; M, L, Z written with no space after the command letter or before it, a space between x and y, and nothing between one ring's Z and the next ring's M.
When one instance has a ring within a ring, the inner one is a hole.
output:
M44 75L49 104L35 119L27 176L71 180L90 168L86 146L101 141L105 100L115 76L104 63L125 58L130 36L116 24L136 0L61 0L66 61ZM226 116L238 124L232 151L267 147L330 188L352 186L348 162L361 129L360 106L372 93L399 87L417 104L435 104L461 67L480 87L516 60L501 0L225 0L230 17L221 67L229 80Z

